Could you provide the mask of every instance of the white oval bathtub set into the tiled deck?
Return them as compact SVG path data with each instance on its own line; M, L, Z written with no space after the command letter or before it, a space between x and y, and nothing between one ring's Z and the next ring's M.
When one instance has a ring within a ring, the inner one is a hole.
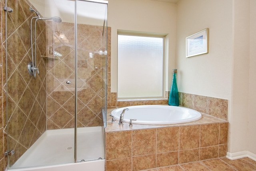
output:
M128 108L124 112L124 122L130 122L130 119L137 119L132 123L146 125L167 125L175 123L186 123L197 121L202 117L201 113L180 106L169 105L137 105L114 109L111 114L116 120L120 119L123 109Z

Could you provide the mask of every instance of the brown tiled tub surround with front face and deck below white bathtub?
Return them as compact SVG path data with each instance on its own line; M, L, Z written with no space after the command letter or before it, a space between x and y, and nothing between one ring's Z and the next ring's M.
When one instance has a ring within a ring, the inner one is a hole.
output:
M118 125L108 109L106 171L144 170L226 156L228 122L202 114L172 125Z

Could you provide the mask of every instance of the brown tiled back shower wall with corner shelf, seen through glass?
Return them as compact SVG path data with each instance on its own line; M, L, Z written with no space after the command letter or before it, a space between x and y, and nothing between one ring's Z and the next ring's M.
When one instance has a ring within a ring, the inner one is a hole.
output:
M47 22L47 25L48 48L62 54L54 58L49 52L46 55L47 129L72 128L75 107L74 24ZM106 42L106 28L104 36L103 26L78 24L77 30L78 127L102 126L101 109L106 101L106 55L98 52L106 50L106 44L102 45ZM110 28L108 33L110 36ZM89 58L89 52L93 53L93 58ZM67 81L71 84L66 84Z

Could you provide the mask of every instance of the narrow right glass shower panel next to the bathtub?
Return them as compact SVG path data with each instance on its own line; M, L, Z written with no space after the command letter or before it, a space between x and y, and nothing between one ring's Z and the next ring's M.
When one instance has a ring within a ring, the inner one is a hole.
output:
M104 159L106 121L107 3L76 1L77 158Z

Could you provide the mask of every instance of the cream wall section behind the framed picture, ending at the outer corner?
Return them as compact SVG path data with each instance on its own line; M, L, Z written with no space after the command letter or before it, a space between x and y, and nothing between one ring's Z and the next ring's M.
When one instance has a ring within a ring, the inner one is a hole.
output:
M231 1L180 0L177 6L176 68L179 91L230 99ZM209 28L209 54L186 58L186 37Z

